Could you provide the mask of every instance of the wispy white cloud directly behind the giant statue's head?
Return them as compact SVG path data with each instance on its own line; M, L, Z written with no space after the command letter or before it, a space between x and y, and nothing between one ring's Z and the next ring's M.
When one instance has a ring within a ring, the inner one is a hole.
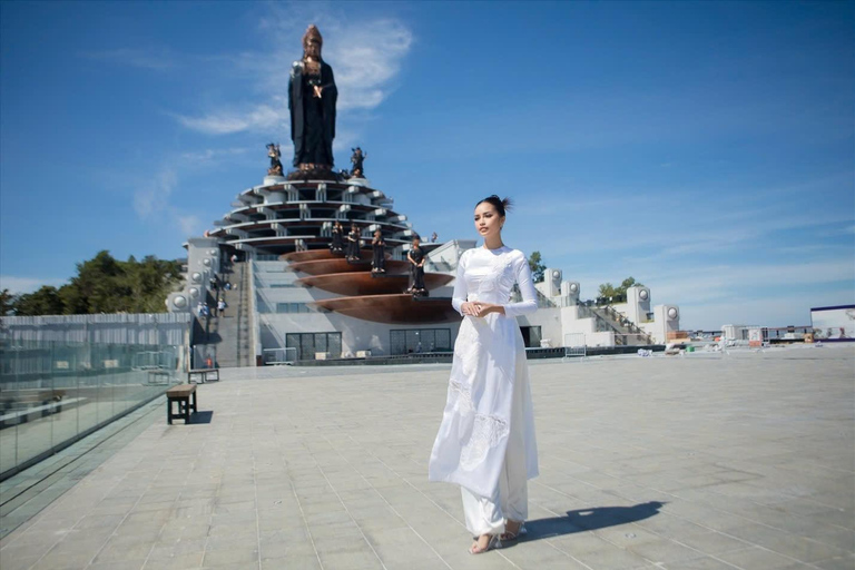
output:
M259 26L273 43L268 52L216 58L246 77L262 100L212 108L196 116L175 115L176 119L209 135L287 131L287 73L291 62L302 56L301 40L309 22L324 36L323 57L335 73L338 122L347 121L347 111L370 110L383 102L413 43L406 26L393 19L345 18L318 4L271 4ZM272 72L272 62L278 62L276 72Z

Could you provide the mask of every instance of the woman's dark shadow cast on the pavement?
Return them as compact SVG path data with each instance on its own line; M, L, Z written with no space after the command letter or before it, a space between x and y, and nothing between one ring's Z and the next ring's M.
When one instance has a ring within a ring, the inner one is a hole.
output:
M548 539L573 532L584 532L640 521L658 514L659 509L664 504L658 501L650 501L633 507L579 509L577 511L568 511L567 517L525 521L528 534L523 539L525 541Z

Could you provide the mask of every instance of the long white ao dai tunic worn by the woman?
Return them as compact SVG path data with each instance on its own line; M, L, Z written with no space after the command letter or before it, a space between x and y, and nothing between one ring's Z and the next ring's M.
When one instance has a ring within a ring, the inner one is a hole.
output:
M510 302L514 283L522 294L519 303ZM529 262L522 252L504 246L464 252L452 304L460 312L466 301L501 304L505 314L463 316L454 343L442 424L431 452L429 479L492 497L511 431L522 432L528 478L538 474L525 347L515 318L537 311L538 303ZM523 421L519 425L511 424L514 391L522 391L518 396L523 399Z

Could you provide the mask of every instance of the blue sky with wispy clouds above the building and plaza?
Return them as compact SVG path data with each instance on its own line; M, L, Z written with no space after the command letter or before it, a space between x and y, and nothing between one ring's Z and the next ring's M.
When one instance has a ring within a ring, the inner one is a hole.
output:
M337 167L414 228L505 243L592 297L633 276L684 328L855 303L853 2L2 2L0 284L181 243L289 155L308 23ZM287 147L287 150L286 150ZM285 161L285 160L283 160Z

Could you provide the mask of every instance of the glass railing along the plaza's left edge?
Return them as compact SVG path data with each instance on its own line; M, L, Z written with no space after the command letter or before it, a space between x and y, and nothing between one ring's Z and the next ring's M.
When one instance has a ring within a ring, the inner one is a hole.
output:
M0 479L179 383L181 346L0 341Z

